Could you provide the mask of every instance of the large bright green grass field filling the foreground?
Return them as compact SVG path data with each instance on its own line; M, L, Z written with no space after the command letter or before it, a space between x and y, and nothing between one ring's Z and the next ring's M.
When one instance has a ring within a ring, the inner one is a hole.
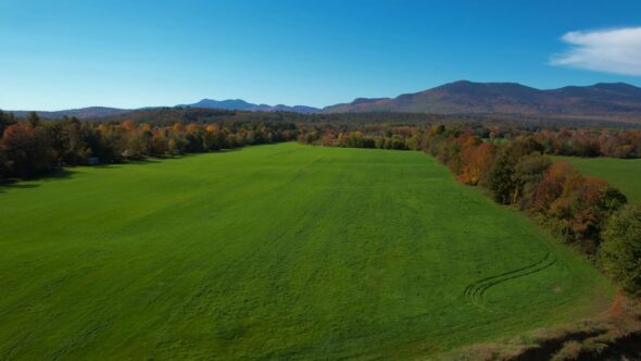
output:
M402 359L613 288L410 151L296 144L0 188L0 359Z

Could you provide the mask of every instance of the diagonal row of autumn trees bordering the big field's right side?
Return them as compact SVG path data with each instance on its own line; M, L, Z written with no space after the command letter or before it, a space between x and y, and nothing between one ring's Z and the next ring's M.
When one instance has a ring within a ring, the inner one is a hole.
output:
M537 136L483 141L469 129L431 127L426 151L460 182L527 212L596 262L627 292L641 296L641 207L603 179L553 162Z

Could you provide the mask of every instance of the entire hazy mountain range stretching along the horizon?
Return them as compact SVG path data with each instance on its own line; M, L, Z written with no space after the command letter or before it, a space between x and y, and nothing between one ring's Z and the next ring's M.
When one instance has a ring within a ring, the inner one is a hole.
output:
M409 112L433 114L549 114L549 115L641 115L641 88L625 83L599 83L540 90L517 83L473 83L460 80L395 98L357 98L323 109L282 104L253 104L241 99L202 99L179 108L298 113ZM91 107L38 112L42 117L63 115L79 119L118 115L133 110ZM17 116L25 111L14 112Z

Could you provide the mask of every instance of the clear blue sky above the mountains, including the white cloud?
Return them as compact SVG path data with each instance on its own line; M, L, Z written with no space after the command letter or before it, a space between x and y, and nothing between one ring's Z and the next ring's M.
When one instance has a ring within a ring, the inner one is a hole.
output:
M0 109L641 86L641 1L0 0Z

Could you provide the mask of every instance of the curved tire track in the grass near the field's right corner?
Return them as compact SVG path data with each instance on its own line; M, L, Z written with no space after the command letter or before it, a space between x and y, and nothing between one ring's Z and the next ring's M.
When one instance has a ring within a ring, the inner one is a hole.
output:
M525 277L544 271L554 265L554 263L556 263L556 257L551 252L546 252L545 257L538 262L470 283L465 287L463 296L469 303L487 310L487 308L481 304L481 300L488 289L511 279Z

